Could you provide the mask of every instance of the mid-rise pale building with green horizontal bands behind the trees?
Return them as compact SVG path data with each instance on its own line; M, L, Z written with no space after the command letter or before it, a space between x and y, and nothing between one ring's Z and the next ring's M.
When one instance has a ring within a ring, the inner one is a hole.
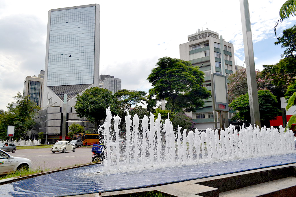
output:
M180 59L190 61L193 66L198 66L205 73L203 84L211 90L210 73L226 76L235 71L233 44L223 40L217 32L211 30L198 30L188 36L187 43L180 44ZM200 130L214 128L214 112L212 98L204 100L203 108L187 113L196 127ZM219 125L219 124L218 124Z

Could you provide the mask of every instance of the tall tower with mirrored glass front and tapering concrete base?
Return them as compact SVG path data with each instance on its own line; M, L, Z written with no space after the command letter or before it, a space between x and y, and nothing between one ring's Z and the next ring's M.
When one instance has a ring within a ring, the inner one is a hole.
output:
M49 10L42 109L32 133L58 136L71 123L63 125L63 117L82 120L75 96L99 86L99 16L98 4Z

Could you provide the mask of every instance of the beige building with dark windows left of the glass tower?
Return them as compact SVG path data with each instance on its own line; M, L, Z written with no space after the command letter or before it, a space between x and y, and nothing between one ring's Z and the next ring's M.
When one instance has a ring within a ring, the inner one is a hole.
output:
M24 80L23 96L28 96L30 100L36 102L41 107L42 90L44 84L44 71L41 70L37 76L27 76Z

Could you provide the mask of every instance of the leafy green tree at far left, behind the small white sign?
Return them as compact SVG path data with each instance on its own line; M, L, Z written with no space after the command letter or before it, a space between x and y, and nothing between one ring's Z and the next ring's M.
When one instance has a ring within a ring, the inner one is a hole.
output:
M8 111L0 114L0 138L5 139L7 126L15 126L14 139L25 139L32 128L34 115L40 109L35 102L23 97L20 92L14 97L16 103L10 103ZM15 105L16 104L16 105Z

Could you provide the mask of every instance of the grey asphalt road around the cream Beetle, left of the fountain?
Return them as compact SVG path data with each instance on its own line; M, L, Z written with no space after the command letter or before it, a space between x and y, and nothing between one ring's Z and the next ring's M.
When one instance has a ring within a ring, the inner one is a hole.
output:
M75 152L56 152L52 153L50 148L43 149L17 149L15 153L9 152L14 157L25 157L31 160L34 167L41 170L54 170L59 167L70 167L77 164L87 164L91 162L91 148L77 147Z

